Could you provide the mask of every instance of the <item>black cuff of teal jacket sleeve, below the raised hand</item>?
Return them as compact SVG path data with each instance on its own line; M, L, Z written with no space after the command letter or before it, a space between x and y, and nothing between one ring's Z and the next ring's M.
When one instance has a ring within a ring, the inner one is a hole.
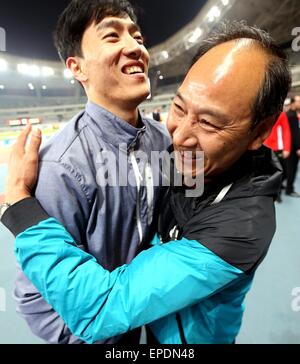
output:
M47 219L49 219L49 215L46 214L38 200L29 197L9 207L3 214L1 222L17 236Z

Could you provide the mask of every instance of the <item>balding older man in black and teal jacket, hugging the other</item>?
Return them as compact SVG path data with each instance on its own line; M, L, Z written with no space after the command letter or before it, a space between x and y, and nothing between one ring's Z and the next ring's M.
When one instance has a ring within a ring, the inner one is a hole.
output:
M2 221L17 236L25 273L75 335L92 343L151 323L160 343L234 342L275 232L281 170L262 144L289 85L286 56L266 33L225 24L205 40L168 120L179 172L203 173L196 158L204 152L204 194L171 187L160 239L111 273L30 198L40 138L24 153L23 132L6 192L14 205Z

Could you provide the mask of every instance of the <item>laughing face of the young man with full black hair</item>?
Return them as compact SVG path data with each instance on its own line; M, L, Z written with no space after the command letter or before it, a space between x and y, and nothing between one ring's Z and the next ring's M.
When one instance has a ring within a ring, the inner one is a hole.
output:
M91 101L114 113L135 109L147 98L149 54L139 27L129 17L92 23L81 47L83 57L69 58L67 67Z

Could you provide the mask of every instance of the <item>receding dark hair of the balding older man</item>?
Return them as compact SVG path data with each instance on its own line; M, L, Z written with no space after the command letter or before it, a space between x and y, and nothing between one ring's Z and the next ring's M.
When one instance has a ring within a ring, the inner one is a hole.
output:
M273 38L262 29L247 25L245 21L225 21L201 43L192 64L215 46L241 39L252 39L253 44L258 45L270 58L264 82L253 103L252 128L254 129L268 117L274 116L276 119L279 117L291 87L288 57Z

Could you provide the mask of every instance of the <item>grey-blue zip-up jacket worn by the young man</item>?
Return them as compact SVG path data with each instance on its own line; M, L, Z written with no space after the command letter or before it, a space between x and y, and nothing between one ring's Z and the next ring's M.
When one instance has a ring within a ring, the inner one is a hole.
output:
M89 102L40 155L37 199L110 271L129 263L155 228L161 188L151 152L171 141L163 125L144 118L142 124L134 128ZM34 334L48 343L80 342L20 268L14 297Z

